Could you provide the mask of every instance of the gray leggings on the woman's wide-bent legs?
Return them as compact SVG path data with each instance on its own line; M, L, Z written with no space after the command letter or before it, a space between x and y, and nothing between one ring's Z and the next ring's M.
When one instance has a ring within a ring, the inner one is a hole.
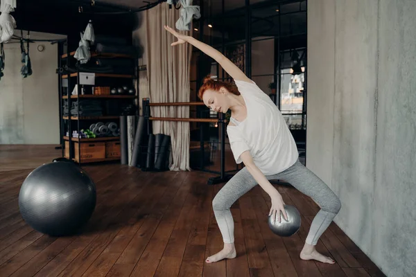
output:
M341 208L340 199L318 176L300 163L299 160L277 175L267 175L268 180L284 179L301 193L308 195L320 206L320 211L312 221L306 243L316 245ZM212 202L216 222L225 243L234 242L234 220L229 208L242 195L257 185L247 168L237 172L217 193ZM266 215L265 215L266 216Z

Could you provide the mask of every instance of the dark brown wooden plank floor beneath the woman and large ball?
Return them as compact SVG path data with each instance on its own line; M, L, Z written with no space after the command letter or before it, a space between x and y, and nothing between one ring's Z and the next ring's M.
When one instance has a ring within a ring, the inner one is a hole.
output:
M10 161L12 163L12 161ZM302 228L280 238L268 228L270 201L259 186L232 206L237 258L206 264L223 246L211 202L223 186L202 172L141 172L86 166L97 205L82 235L51 238L25 224L18 193L31 170L0 172L0 276L384 276L336 224L318 250L336 265L299 258L318 206L277 186L302 213Z

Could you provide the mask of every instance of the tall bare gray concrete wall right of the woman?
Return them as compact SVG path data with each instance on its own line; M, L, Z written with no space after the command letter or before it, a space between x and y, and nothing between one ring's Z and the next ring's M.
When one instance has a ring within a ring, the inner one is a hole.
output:
M416 1L308 3L306 166L388 276L416 271Z

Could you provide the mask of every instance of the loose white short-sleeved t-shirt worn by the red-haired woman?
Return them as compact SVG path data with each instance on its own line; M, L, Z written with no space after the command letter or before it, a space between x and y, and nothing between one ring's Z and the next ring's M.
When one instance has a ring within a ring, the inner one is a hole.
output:
M255 82L235 80L247 107L247 117L236 126L227 126L227 134L236 163L250 150L254 164L263 175L275 175L293 166L299 157L293 136L284 117Z

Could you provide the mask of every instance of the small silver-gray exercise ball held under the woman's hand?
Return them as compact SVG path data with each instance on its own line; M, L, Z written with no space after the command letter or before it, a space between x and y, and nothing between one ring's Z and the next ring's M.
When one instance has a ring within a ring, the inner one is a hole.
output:
M272 232L276 235L280 235L281 237L290 237L300 229L300 213L297 211L295 206L291 205L284 205L284 210L286 211L286 215L288 217L287 221L284 219L283 213L280 212L280 222L278 218L276 218L275 223L273 224L272 215L269 215L268 224Z

